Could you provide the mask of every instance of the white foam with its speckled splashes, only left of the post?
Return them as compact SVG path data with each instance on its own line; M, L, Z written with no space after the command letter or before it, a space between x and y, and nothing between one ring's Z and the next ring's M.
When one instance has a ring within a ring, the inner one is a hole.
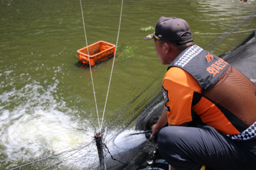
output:
M93 140L94 129L80 130L80 119L72 119L71 108L56 101L58 80L44 88L33 81L20 89L12 88L0 94L0 151L4 160L28 162L78 147ZM13 101L14 100L14 101ZM15 106L13 106L15 105ZM68 114L59 111L67 110Z

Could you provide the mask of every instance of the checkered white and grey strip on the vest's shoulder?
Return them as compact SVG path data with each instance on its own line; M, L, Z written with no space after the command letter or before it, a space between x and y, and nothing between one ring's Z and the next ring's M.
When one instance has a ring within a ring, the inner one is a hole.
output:
M188 63L194 56L198 55L203 49L200 46L193 45L190 49L188 49L181 58L174 64L184 67L186 63Z

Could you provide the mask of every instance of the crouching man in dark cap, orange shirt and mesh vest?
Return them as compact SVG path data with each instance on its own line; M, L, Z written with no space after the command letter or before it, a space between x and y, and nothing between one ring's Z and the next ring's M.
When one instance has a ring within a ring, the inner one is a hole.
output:
M176 170L256 169L256 87L218 56L194 45L189 24L161 17L154 39L165 106L152 136ZM168 123L169 126L164 126Z

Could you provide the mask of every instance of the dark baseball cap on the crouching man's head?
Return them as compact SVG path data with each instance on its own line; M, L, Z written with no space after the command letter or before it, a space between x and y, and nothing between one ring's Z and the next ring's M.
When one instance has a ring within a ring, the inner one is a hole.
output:
M182 36L185 33L190 33L190 35ZM144 37L144 40L150 39L181 41L192 39L192 34L189 24L185 20L176 17L160 17L155 32Z

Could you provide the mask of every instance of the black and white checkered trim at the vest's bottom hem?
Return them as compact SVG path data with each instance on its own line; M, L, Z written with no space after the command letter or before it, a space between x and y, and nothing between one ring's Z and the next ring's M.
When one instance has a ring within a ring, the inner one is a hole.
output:
M252 126L250 126L248 129L246 129L245 131L243 131L243 133L239 135L225 135L230 137L231 139L248 140L254 138L256 136L256 122L254 122Z

